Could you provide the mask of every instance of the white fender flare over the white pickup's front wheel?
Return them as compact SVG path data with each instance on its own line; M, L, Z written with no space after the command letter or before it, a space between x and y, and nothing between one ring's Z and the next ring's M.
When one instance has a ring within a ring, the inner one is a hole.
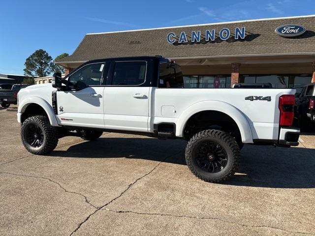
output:
M41 106L45 110L49 118L49 122L52 126L59 126L55 112L53 108L51 107L51 105L49 105L49 103L45 101L44 99L40 97L36 97L36 96L30 96L23 99L23 101L19 104L18 116L19 114L22 115L22 113L25 112L26 108L33 103Z

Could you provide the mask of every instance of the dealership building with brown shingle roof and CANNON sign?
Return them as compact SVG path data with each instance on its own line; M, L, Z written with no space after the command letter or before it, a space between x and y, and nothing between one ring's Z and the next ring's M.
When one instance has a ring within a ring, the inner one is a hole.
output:
M315 82L315 15L88 33L56 63L69 73L92 59L155 55L182 66L187 88L298 88Z

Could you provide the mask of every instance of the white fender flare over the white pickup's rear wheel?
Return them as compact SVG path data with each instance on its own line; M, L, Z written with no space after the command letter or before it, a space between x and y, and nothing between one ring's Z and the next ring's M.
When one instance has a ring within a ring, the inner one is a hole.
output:
M222 101L202 101L192 104L189 108L187 108L181 116L178 118L176 124L176 136L183 137L184 129L187 121L191 116L198 112L202 111L217 111L222 112L229 117L231 117L235 123L237 124L243 143L253 143L252 141L252 131L248 120L245 118L243 113L238 110L236 107Z

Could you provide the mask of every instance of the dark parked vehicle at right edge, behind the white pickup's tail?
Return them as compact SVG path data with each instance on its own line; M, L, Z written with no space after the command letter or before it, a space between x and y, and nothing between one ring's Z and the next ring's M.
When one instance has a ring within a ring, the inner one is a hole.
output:
M307 131L315 124L315 83L305 85L296 93L294 118L301 130Z

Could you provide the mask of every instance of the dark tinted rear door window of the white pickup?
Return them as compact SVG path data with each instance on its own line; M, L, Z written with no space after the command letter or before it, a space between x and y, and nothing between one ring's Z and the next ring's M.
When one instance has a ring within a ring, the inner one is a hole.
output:
M113 72L112 85L141 85L146 79L145 61L117 61Z

